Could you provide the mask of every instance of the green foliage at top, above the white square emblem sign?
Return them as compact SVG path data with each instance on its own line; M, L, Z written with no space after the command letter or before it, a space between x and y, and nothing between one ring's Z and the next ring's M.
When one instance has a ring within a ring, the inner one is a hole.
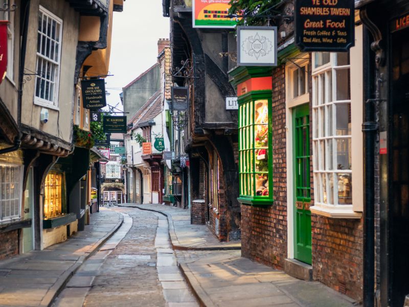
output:
M269 10L279 2L280 0L231 0L229 14L245 16L240 18L239 25L243 25L245 19L248 26L264 26L267 24L265 15L270 15Z

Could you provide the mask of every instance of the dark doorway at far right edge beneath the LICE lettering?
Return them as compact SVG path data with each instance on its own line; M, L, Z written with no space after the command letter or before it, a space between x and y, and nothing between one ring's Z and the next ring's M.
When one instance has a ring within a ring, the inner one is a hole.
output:
M403 306L409 294L409 30L392 35L390 146L390 298Z

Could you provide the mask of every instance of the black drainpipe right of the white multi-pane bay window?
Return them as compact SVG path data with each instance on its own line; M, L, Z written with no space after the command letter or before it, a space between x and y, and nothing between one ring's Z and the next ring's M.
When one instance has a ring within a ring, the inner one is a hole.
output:
M363 32L364 55L370 54L370 38L368 30ZM373 80L373 67L371 56L364 56L364 91L365 98L371 97L373 84L376 83L375 99L367 99L364 104L362 124L363 132L363 173L364 188L363 196L363 305L374 306L375 285L375 137L378 131L376 121L377 104L380 101L380 78L376 69L376 80ZM368 81L366 81L368 80ZM373 97L373 96L372 96Z

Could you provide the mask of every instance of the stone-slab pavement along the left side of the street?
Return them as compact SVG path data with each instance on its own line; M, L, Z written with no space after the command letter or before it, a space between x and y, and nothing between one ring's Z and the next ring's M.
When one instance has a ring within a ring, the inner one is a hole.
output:
M91 220L93 226L86 225L84 231L66 242L0 261L0 305L49 306L82 262L118 229L123 218L101 208ZM74 301L72 305L78 306Z

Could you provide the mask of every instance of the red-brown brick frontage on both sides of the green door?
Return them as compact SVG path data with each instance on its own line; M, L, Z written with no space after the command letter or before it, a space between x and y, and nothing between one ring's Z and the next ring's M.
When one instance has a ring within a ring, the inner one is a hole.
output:
M284 65L273 71L272 80L274 204L267 208L241 205L241 238L244 257L283 269L289 243ZM312 121L312 116L310 119ZM312 159L311 188L313 205ZM311 216L313 279L359 301L362 298L362 225L360 220Z

